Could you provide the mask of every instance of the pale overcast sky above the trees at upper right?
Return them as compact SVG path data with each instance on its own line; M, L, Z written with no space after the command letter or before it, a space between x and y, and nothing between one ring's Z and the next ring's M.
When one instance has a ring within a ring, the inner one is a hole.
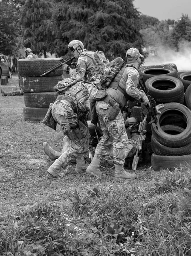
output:
M191 17L191 0L134 0L133 4L142 14L159 20L178 20L182 13Z

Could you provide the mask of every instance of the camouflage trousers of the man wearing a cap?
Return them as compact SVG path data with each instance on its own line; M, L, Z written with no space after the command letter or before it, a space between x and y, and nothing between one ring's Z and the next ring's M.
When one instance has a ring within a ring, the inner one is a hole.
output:
M96 102L96 113L103 135L98 142L94 157L101 159L104 156L108 156L111 149L113 149L114 164L124 164L124 160L132 146L129 145L121 111L119 111L114 120L110 120L107 117L108 108L110 108L110 105L106 102Z

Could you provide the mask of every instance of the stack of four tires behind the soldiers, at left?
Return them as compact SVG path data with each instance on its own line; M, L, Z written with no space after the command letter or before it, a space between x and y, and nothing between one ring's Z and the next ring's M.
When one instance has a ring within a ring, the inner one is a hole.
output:
M24 120L40 122L43 120L51 102L58 94L53 87L63 80L62 67L56 69L48 76L41 75L49 68L60 64L59 58L36 58L18 60L18 73L20 87L23 91L25 107Z

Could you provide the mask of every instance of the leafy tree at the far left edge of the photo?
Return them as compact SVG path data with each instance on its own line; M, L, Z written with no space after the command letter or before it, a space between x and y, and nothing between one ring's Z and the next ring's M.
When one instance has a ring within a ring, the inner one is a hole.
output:
M0 52L10 56L17 47L20 5L13 0L0 0Z

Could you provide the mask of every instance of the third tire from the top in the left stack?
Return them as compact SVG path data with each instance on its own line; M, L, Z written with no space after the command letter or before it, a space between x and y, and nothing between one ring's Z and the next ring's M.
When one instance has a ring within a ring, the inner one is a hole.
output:
M49 108L57 96L56 92L24 93L23 98L27 108Z

